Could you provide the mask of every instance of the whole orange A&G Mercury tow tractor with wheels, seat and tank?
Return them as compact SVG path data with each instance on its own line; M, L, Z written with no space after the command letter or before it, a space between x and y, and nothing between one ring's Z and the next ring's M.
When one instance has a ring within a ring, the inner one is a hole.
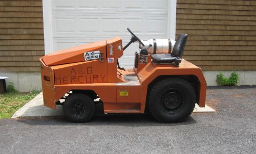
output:
M120 37L59 50L40 58L44 105L63 105L72 122L89 121L95 103L104 113L144 113L161 122L188 117L197 103L205 106L202 70L182 59L187 34L177 40L140 40L130 29L131 41ZM133 69L121 68L118 58L139 42ZM60 101L61 100L61 101Z

